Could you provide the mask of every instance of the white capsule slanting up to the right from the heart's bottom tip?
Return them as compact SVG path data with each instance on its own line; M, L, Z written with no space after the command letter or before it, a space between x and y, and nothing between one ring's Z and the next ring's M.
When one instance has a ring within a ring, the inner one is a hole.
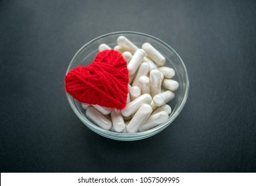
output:
M138 108L140 108L142 104L149 104L150 102L152 102L152 97L150 94L143 94L130 102L130 104L127 104L126 107L121 110L122 116L131 116L138 110Z

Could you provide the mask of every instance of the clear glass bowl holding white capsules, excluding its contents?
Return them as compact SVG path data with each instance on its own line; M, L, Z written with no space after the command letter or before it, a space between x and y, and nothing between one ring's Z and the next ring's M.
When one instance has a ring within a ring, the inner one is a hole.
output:
M152 128L151 130L147 130L145 132L137 132L134 134L124 134L118 132L112 132L104 130L98 127L94 122L88 119L85 115L85 110L82 109L80 102L75 100L70 94L66 93L66 97L68 102L76 114L78 118L84 123L90 130L100 134L106 138L114 139L114 140L121 140L121 141L132 141L132 140L142 140L144 138L148 138L150 136L154 136L158 134L165 128L167 128L172 122L174 122L175 118L180 114L182 108L186 103L188 98L188 90L189 90L189 80L188 80L188 72L186 70L186 66L182 61L182 58L177 54L177 52L161 41L156 37L152 37L150 35L146 35L144 33L135 33L130 31L122 31L116 33L108 33L106 35L102 35L93 39L92 41L86 43L86 45L82 46L78 52L72 58L70 64L68 65L68 69L66 74L72 68L75 68L78 65L88 65L94 60L96 54L98 53L98 46L102 43L114 48L117 45L116 39L119 36L125 36L128 38L132 43L134 43L139 48L142 47L143 43L150 43L152 46L157 48L165 57L166 57L166 64L164 66L169 66L174 68L176 74L174 76L174 80L178 81L180 86L178 90L175 92L175 98L170 102L170 106L172 108L172 113L169 116L168 121L160 124L159 126Z

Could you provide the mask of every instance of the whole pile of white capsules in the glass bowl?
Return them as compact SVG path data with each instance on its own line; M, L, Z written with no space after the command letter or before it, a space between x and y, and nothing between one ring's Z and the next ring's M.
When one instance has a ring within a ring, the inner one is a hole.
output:
M150 43L138 48L124 36L117 39L114 50L122 53L128 62L128 98L122 110L82 103L86 116L104 130L135 133L154 128L169 118L172 108L168 102L174 99L179 87L173 68L164 66L166 58ZM111 49L106 44L99 51Z

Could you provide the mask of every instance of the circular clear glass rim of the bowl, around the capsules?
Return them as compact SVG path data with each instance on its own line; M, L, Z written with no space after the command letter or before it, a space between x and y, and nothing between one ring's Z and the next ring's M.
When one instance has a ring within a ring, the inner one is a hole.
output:
M78 110L76 109L76 106L74 106L74 103L72 102L72 100L74 98L70 94L68 94L68 92L66 92L66 98L67 98L68 103L70 104L72 110L76 114L76 116L78 116L78 118L82 121L82 123L84 125L86 125L88 128L90 128L90 130L92 130L93 132L96 132L96 134L99 134L99 135L104 136L106 138L110 138L112 140L120 140L120 141L142 140L144 138L149 138L150 136L154 136L154 135L158 134L159 132L162 132L162 130L164 130L170 124L172 124L172 122L178 117L180 112L182 112L182 110L183 110L183 108L186 104L186 101L188 100L188 93L189 93L189 89L190 89L190 81L189 81L189 78L188 78L188 70L187 70L182 58L176 52L176 50L174 50L174 48L169 46L164 41L162 41L162 40L160 40L156 37L153 37L152 35L145 34L145 33L139 33L139 32L134 32L134 31L117 31L117 32L107 33L107 34L101 35L99 37L96 37L95 39L92 39L91 41L89 41L88 43L83 45L76 52L76 54L74 54L74 56L70 60L70 63L68 64L68 68L66 70L66 74L70 71L70 67L71 67L72 63L74 62L76 56L78 56L78 54L80 54L80 52L84 48L86 48L86 46L90 45L91 43L94 43L95 41L98 41L99 39L102 39L104 37L108 37L110 35L124 35L124 34L140 35L142 37L148 37L150 39L153 39L153 40L157 41L158 43L166 46L166 48L172 50L172 52L174 52L174 55L178 58L178 60L180 60L180 62L182 64L182 67L184 68L184 72L186 74L185 78L186 78L187 84L186 84L186 87L184 88L184 90L185 90L184 98L182 99L182 102L180 103L180 106L177 108L176 112L174 112L174 114L172 114L172 116L168 119L168 121L164 122L163 124L160 124L159 126L156 126L155 128L152 128L150 130L146 130L144 132L137 132L137 133L133 133L133 134L112 132L112 131L104 130L104 129L98 127L96 124L93 124L92 122L90 122L90 120L88 120L87 118L82 116L82 114L80 114L80 112L78 112Z

